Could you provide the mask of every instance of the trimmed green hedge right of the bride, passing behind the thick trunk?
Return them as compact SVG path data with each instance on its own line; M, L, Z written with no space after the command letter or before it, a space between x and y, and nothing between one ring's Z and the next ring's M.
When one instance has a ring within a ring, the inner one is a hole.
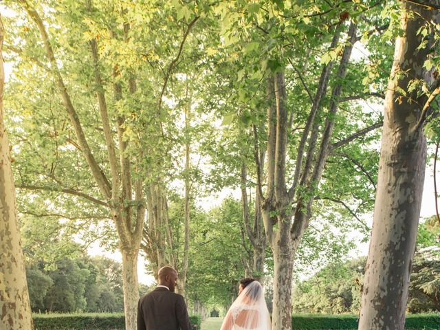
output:
M316 315L292 316L293 330L357 330L358 316ZM406 330L438 330L440 314L414 314L406 316Z

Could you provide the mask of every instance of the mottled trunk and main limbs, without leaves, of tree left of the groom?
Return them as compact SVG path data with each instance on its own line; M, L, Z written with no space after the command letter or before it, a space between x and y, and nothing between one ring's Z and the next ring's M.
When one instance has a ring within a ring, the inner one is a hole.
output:
M109 110L107 108L107 99L105 96L104 87L102 86L102 76L99 69L100 59L96 40L89 41L88 47L91 54L92 63L94 64L94 88L96 89L96 96L98 99L98 109L100 111L100 120L102 129L104 131L104 142L107 146L107 157L110 165L110 178L107 178L106 173L102 170L96 156L94 155L90 142L87 140L85 130L83 129L84 121L78 115L78 110L72 102L72 97L65 84L65 79L62 76L61 69L57 62L54 47L51 41L50 34L47 33L47 28L41 19L37 8L28 1L19 1L21 7L28 13L28 17L36 25L43 41L45 56L47 62L50 63L50 74L52 75L57 87L57 91L63 106L68 115L70 124L74 129L76 135L77 145L81 153L87 161L91 175L100 190L100 194L106 201L102 201L102 205L109 206L112 219L115 221L115 227L118 231L120 239L120 252L122 254L122 278L124 279L124 307L126 315L126 329L135 328L136 306L138 299L137 292L137 254L140 248L140 240L142 237L142 227L144 223L144 204L142 203L142 178L134 179L134 188L132 187L132 173L129 158L126 155L126 148L128 143L124 140L124 115L119 115L115 120L115 126L118 131L116 133L118 138L118 151L120 153L120 165L118 166L117 151L115 148L115 137L112 133L111 120L109 119ZM68 4L66 4L68 5ZM93 10L91 3L87 4L88 10ZM85 8L81 8L85 10ZM129 26L126 26L129 29ZM126 39L126 36L125 36ZM118 74L118 70L116 70ZM129 94L135 92L135 80L129 76ZM114 81L115 98L122 98L122 87L120 81ZM114 139L114 140L113 140ZM133 195L135 205L133 205ZM95 199L98 201L99 199Z

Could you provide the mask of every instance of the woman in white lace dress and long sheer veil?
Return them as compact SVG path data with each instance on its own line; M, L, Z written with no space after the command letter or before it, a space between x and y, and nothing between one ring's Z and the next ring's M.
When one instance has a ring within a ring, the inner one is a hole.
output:
M239 296L232 303L220 330L248 329L271 329L263 287L255 278L243 278L240 281Z

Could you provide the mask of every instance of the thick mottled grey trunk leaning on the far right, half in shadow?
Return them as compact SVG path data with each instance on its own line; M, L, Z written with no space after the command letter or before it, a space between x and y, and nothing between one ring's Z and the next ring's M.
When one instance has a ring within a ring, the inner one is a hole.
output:
M437 1L439 2L439 1ZM420 125L426 96L407 96L412 79L432 79L423 70L430 45L417 50L417 31L434 19L434 10L404 2L404 34L396 41L384 104L384 129L375 199L373 231L366 264L359 329L403 330L412 257L426 167L426 141ZM396 81L396 74L405 72ZM399 88L397 88L399 87ZM412 99L412 100L411 100ZM411 101L408 101L411 100Z

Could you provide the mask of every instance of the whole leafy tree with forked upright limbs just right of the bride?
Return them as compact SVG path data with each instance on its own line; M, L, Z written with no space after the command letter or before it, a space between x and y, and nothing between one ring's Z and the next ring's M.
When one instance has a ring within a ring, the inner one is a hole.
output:
M371 122L355 131L354 127L348 129L348 124L340 124L344 120L339 115L340 109L347 109L341 102L344 94L363 94L359 73L351 71L350 58L354 43L360 40L358 31L368 34L370 28L357 17L361 12L370 14L375 5L347 5L340 15L325 1L313 8L270 1L238 3L230 11L228 5L221 6L223 17L234 22L225 23L225 43L239 40L244 54L254 54L253 61L245 63L244 74L239 72L239 80L241 76L248 79L238 99L250 103L260 114L267 107L265 129L259 129L259 120L251 120L257 137L257 188L267 241L274 255L272 329L290 329L294 259L311 221L314 199L320 195L327 159L341 146L380 126ZM298 10L302 14L298 15ZM241 11L247 24L237 23L241 22L237 14ZM327 17L325 13L330 14ZM321 52L314 56L316 47ZM320 63L313 63L317 56ZM252 80L266 83L267 100L259 107L252 104ZM309 85L314 87L313 94ZM360 113L354 118L357 115ZM267 161L262 175L259 155L264 149Z

